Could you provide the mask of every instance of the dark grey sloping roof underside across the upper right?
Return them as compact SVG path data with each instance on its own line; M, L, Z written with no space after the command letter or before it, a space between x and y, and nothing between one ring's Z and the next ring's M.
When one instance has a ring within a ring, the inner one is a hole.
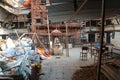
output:
M52 22L67 21L75 12L75 0L50 0L48 6L49 19ZM84 0L76 0L78 7ZM88 0L74 19L93 19L101 16L102 0ZM106 0L106 17L120 14L119 0Z

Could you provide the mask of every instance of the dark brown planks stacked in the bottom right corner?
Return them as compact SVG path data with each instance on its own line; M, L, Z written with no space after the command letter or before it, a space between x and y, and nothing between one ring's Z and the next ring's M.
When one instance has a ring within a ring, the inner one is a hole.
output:
M115 59L109 63L102 65L102 73L109 80L120 80L120 59Z

